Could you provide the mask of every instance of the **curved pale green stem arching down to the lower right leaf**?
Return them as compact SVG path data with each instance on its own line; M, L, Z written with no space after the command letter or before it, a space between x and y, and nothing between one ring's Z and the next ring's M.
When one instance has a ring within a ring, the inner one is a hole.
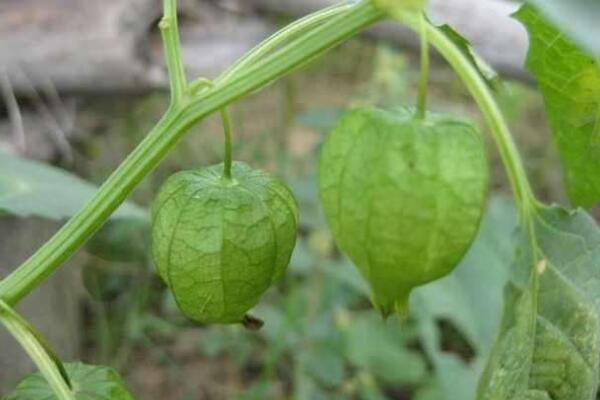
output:
M421 22L402 16L401 22L406 23L415 31L421 29ZM498 106L491 90L483 80L476 67L463 52L441 30L426 23L427 37L440 54L448 61L462 79L467 89L483 112L498 146L500 156L508 173L508 178L519 207L521 218L528 220L537 200L527 179L521 156L515 144L508 124Z

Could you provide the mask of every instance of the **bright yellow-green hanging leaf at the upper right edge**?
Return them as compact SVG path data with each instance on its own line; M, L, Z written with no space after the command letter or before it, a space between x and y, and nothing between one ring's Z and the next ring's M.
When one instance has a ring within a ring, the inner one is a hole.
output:
M569 197L590 207L600 200L600 65L533 7L522 7L516 17L529 31L527 68L544 96Z

